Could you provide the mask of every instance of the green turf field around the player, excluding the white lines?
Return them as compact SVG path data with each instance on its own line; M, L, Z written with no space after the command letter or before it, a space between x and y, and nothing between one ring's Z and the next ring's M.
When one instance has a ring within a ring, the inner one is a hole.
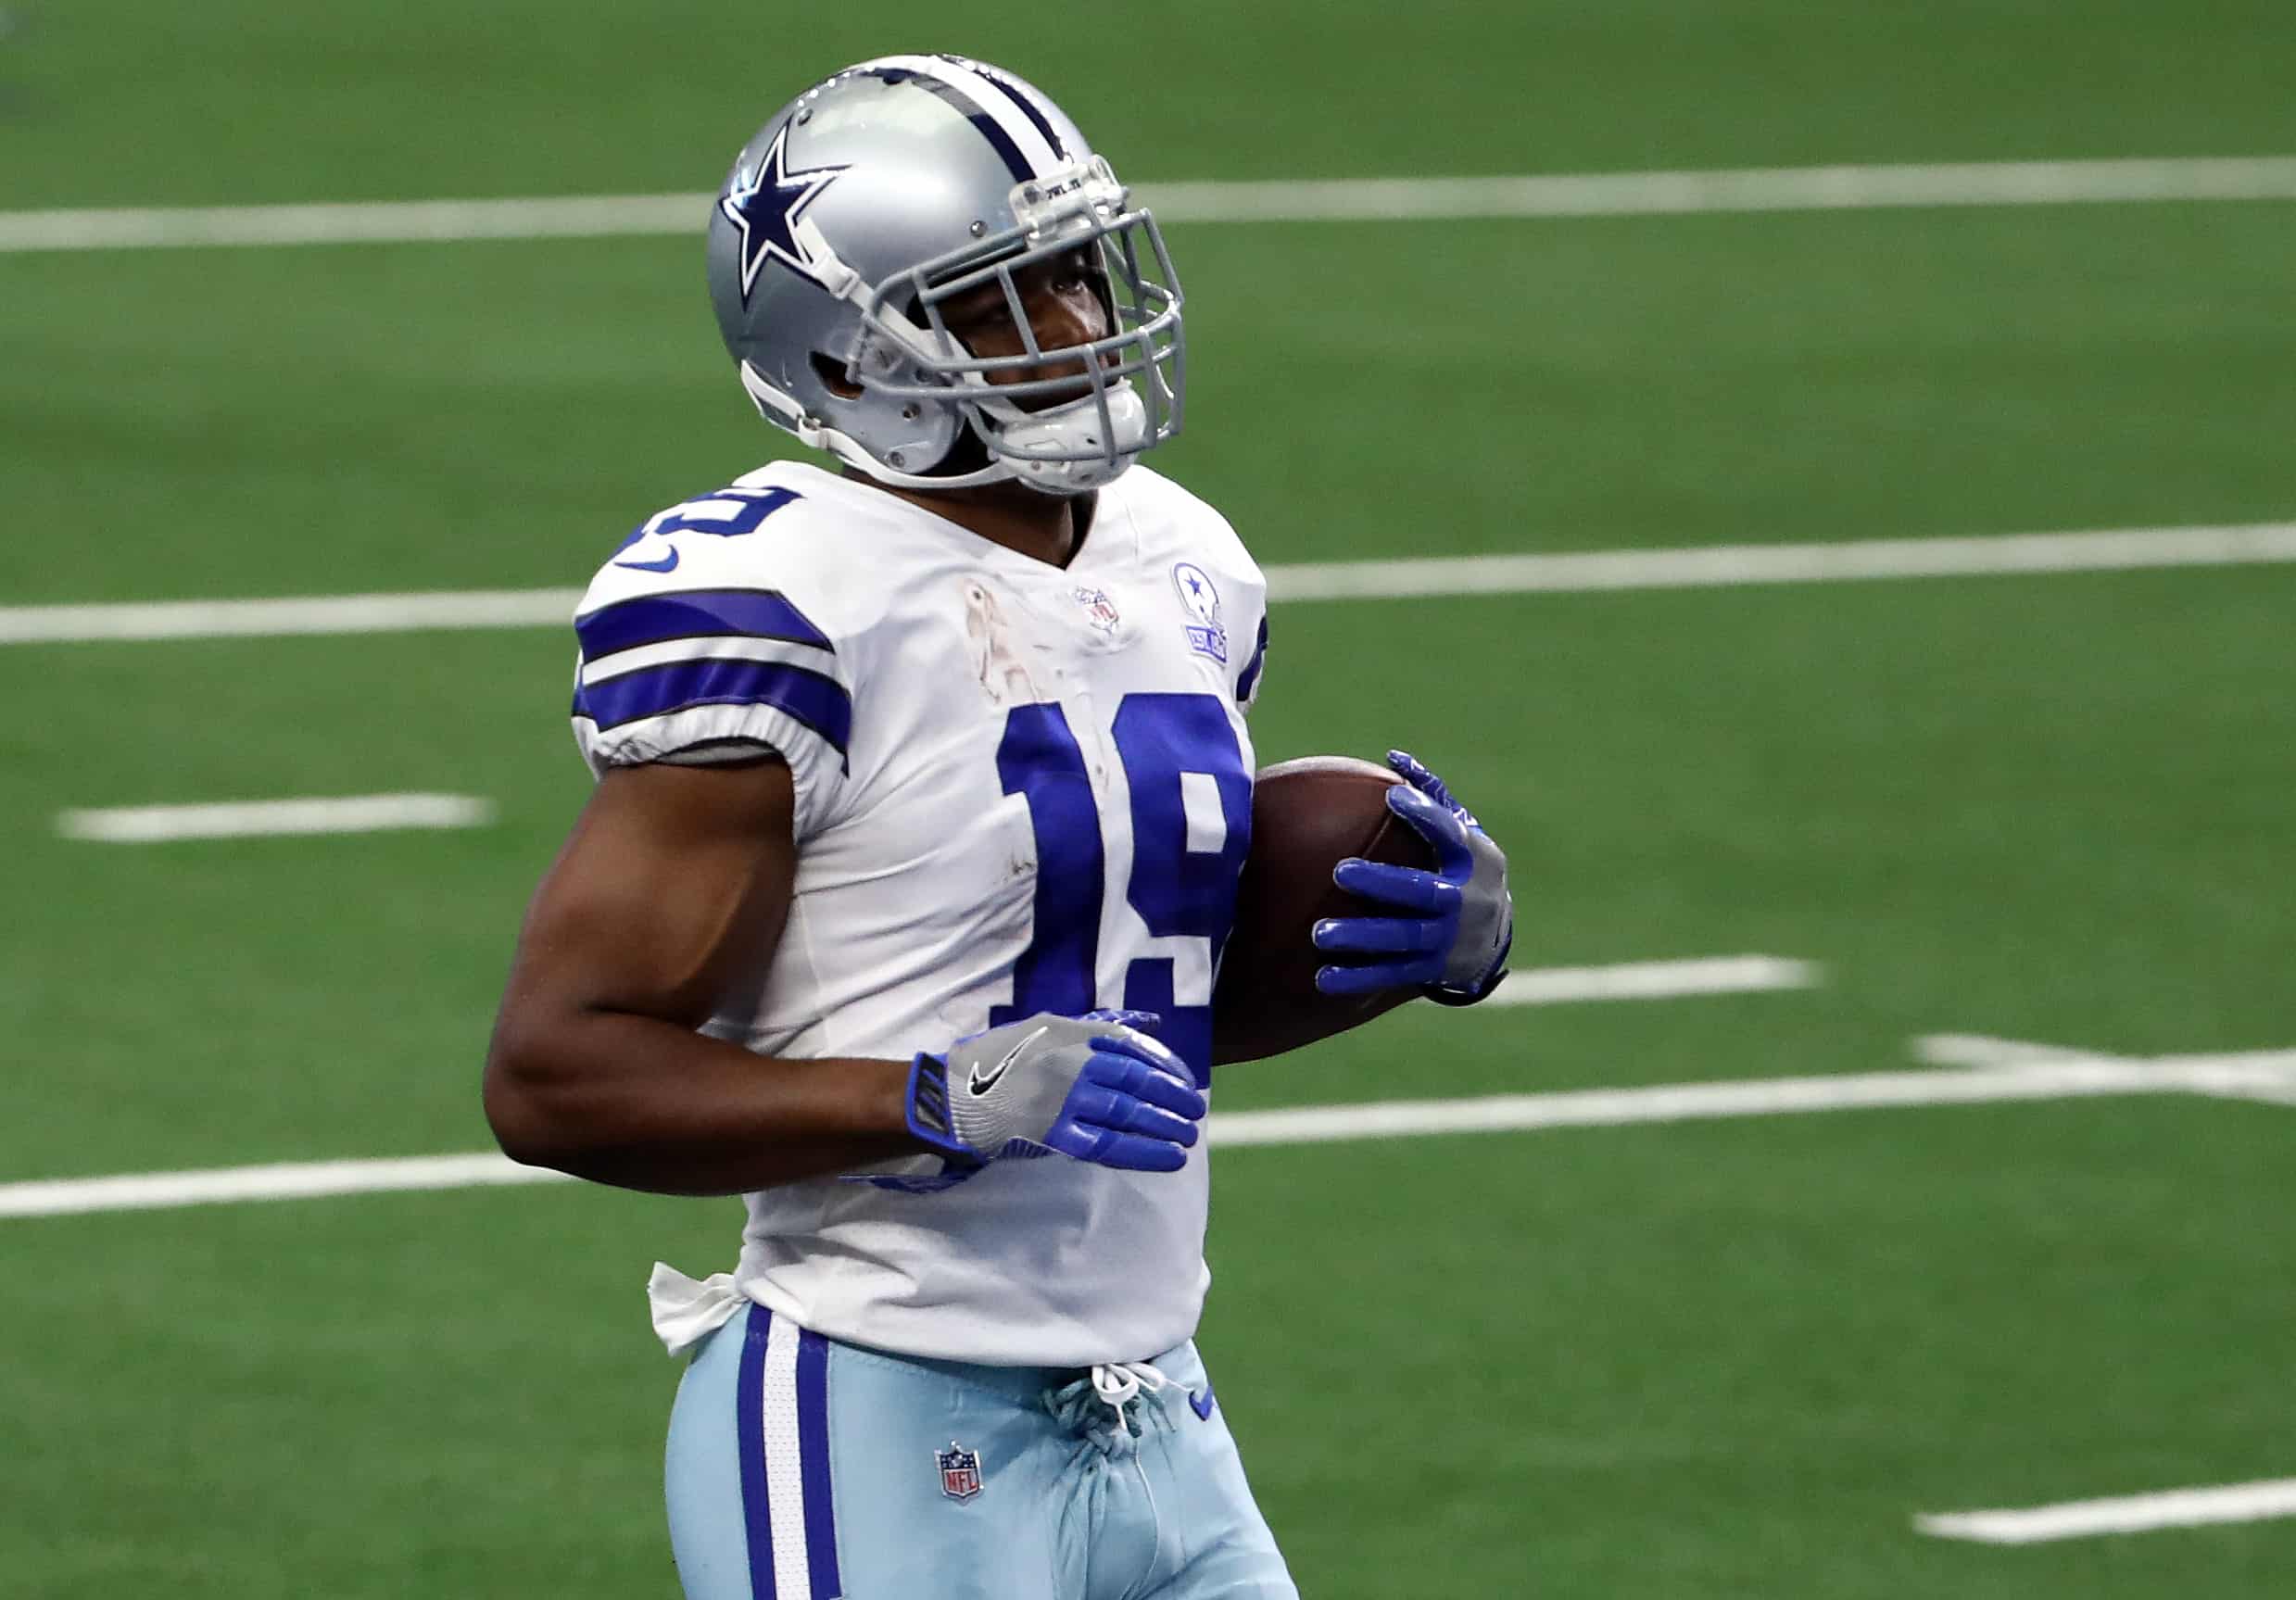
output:
M0 211L700 191L964 48L1155 179L2296 152L2266 0L9 5ZM2296 204L1196 225L1157 466L1267 562L2296 519ZM0 255L0 606L579 585L774 450L698 241ZM1221 1109L2296 1047L2296 569L1277 611L1265 760L1407 741L1518 966L1821 987L1440 1012ZM0 645L0 1185L480 1150L588 780L537 629ZM441 790L489 829L106 847ZM1915 1513L2296 1476L2296 1104L2103 1097L1251 1148L1203 1345L1313 1600L2285 1595L2296 1522ZM659 1256L576 1185L0 1217L0 1595L673 1595Z

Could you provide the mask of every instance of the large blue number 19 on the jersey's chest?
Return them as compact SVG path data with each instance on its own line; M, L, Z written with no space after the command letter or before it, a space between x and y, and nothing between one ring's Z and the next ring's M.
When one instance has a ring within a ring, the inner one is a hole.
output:
M1116 707L1116 755L1132 790L1132 872L1125 900L1159 939L1203 939L1205 971L1235 921L1235 879L1251 847L1251 774L1221 700L1139 693ZM990 1026L1035 1012L1075 1017L1102 1005L1100 904L1107 849L1084 751L1058 705L1022 705L996 746L1006 794L1029 799L1035 833L1035 932L1013 966L1013 1003ZM1210 815L1217 808L1217 824ZM1182 1005L1171 957L1139 957L1118 1001L1162 1012L1162 1038L1212 1081L1212 1005Z

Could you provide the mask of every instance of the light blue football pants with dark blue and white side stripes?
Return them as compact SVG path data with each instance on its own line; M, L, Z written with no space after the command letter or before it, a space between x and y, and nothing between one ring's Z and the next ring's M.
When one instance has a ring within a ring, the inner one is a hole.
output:
M1194 1345L1111 1409L1072 1368L918 1361L746 1306L670 1412L687 1600L1297 1600Z

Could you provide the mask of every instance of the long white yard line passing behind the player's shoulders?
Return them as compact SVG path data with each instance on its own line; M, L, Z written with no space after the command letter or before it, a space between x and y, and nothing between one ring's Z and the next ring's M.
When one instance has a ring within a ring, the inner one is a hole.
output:
M1267 567L1272 599L1428 599L1612 590L1874 583L2151 567L2296 562L2296 523L2105 528L1839 544L1713 544L1671 551L1435 556ZM565 629L581 590L439 590L305 599L172 599L99 606L0 606L0 645L154 638L292 638L436 629Z

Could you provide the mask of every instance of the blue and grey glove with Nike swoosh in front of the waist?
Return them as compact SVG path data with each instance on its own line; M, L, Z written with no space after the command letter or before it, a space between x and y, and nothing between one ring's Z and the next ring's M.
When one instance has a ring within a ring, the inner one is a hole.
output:
M1141 1028L1155 1012L1038 1012L974 1033L909 1065L909 1132L948 1159L1068 1155L1134 1173L1176 1173L1205 1100L1187 1063Z

